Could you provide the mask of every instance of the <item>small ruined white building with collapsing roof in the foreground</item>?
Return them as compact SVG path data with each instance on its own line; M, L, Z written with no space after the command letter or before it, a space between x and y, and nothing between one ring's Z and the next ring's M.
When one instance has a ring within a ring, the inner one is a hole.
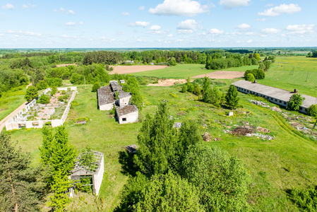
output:
M81 182L80 179L90 178L90 184L84 184L83 186L91 186L92 192L96 195L99 194L102 177L104 175L104 154L97 151L90 151L92 154L92 163L90 165L83 165L83 155L88 152L81 153L76 159L75 166L71 170L70 178L76 182ZM73 192L73 189L71 189Z

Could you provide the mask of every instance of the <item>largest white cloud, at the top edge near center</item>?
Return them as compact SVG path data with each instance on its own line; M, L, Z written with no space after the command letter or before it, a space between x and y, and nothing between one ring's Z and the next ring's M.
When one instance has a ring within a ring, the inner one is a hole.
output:
M165 0L155 8L150 8L149 13L163 16L196 16L208 12L207 5L191 0Z

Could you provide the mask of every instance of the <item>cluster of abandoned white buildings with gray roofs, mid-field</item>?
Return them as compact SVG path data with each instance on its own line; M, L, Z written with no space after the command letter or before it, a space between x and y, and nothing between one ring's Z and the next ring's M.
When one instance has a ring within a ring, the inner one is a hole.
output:
M97 90L99 110L112 110L116 107L116 118L119 124L138 121L138 107L130 104L131 93L122 90L118 81L110 81L109 86Z

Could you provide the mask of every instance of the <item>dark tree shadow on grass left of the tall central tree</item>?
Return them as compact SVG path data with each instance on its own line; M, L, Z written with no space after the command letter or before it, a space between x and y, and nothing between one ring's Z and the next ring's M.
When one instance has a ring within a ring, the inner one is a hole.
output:
M127 151L119 151L119 163L121 164L121 173L124 175L136 176L138 172L138 167L133 163L133 153L128 153Z

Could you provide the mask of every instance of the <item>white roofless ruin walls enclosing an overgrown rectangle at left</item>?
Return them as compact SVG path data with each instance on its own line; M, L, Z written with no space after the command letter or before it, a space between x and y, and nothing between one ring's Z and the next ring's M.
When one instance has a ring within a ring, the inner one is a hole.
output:
M23 112L23 110L21 110L20 112L18 112L18 114L16 114L15 117L13 117L8 122L6 122L6 131L13 130L13 129L21 129L21 128L24 128L24 127L25 128L42 128L44 126L44 124L47 123L47 122L51 122L52 127L63 125L64 122L67 119L68 112L71 109L71 102L74 100L74 98L76 96L77 87L57 88L57 90L67 90L68 88L73 90L73 93L71 95L71 99L69 100L69 102L68 102L68 104L66 106L66 109L64 111L64 114L62 115L61 119L16 122L16 119L21 117L23 113L28 112L30 110L30 108L33 107L36 104L36 100L41 95L46 94L46 93L48 93L51 90L51 88L47 88L39 95L39 97L37 97L37 99L34 99L34 100L32 100L31 102L28 103L28 105L24 109L24 112Z

